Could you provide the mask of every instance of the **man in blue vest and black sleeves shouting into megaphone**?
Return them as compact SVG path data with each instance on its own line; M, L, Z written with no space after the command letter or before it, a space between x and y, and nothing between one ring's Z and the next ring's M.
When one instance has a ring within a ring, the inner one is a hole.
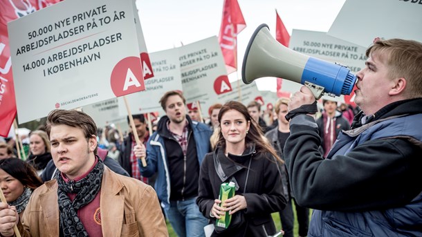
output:
M315 209L309 236L422 236L422 44L377 38L366 55L362 112L327 159L313 117L297 110L315 102L309 88L288 105L284 158L297 203Z

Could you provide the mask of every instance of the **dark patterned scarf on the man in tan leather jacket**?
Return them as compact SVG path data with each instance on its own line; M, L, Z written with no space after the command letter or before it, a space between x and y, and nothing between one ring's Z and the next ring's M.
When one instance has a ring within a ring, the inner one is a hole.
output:
M60 211L60 229L64 236L88 236L84 225L77 216L77 210L91 202L101 188L102 173L104 172L104 164L98 159L97 164L91 172L82 180L77 182L71 180L65 182L61 172L56 173L57 196ZM67 193L77 193L73 202L67 196Z

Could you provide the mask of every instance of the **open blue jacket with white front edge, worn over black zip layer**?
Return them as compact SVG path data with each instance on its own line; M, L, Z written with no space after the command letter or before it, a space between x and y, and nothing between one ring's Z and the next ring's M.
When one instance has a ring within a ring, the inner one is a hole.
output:
M210 152L210 137L212 135L212 131L206 124L192 121L190 120L190 117L186 117L194 134L197 154L196 157L198 158L199 165L201 166L201 162L205 157L205 154ZM158 128L160 128L160 126L166 126L165 121L167 120L167 116L162 117L158 123ZM160 129L158 129L158 131L159 130ZM158 134L158 131L154 132L147 142L147 166L143 167L141 162L138 163L140 173L142 173L145 177L151 177L154 173L158 172L154 188L158 199L161 202L161 206L164 209L168 209L171 193L171 180L168 169L169 162L165 151L164 138Z

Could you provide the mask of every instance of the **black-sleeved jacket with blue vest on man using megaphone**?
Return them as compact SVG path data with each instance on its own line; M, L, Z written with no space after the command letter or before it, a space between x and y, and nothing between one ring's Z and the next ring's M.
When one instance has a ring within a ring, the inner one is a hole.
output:
M290 122L284 153L297 203L316 209L309 236L422 236L422 99L356 115L327 159L311 116Z

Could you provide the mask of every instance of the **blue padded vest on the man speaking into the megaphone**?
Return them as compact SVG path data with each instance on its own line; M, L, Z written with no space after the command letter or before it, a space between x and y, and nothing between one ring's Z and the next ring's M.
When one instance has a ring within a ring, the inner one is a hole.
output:
M422 114L417 114L378 120L340 133L327 159L347 155L368 140L407 137L422 144L421 126ZM402 207L360 212L314 210L309 236L422 236L422 192Z

